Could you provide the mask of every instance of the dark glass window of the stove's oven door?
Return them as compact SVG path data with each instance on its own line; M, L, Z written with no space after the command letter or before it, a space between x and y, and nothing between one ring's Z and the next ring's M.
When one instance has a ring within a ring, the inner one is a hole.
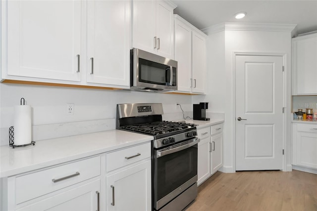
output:
M154 158L154 196L163 198L197 175L197 144L185 150Z

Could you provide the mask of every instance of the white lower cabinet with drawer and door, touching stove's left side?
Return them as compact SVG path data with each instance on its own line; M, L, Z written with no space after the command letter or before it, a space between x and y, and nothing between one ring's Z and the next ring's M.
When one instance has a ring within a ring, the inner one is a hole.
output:
M107 168L106 210L151 211L151 143L109 153L106 159L113 163Z

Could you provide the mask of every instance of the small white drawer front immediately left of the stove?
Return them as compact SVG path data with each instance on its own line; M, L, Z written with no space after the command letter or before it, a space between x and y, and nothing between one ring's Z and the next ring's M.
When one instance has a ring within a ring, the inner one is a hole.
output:
M112 171L114 169L129 165L144 158L151 157L151 143L146 143L127 149L115 151L106 154L106 169Z

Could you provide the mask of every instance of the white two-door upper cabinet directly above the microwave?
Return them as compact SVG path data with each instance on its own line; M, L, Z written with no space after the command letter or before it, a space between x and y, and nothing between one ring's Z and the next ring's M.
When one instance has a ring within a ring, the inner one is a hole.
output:
M162 0L134 0L132 46L167 58L174 58L176 6Z

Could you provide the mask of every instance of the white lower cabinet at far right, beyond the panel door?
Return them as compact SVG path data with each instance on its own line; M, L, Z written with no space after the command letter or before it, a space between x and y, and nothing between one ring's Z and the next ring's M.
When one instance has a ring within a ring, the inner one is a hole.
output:
M317 169L317 124L293 123L292 164Z

